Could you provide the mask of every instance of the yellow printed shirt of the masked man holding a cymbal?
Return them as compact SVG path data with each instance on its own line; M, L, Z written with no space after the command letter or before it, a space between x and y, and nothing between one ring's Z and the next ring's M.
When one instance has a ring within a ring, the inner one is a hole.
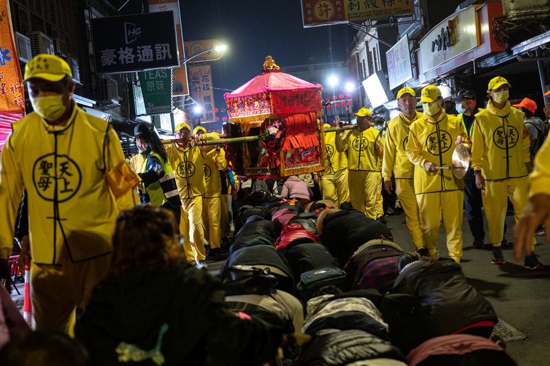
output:
M459 136L465 136L461 120L445 114L437 120L428 114L412 122L406 147L407 156L415 164L415 193L434 193L464 189L464 182L452 173L452 169L437 169L428 173L424 168L426 161L436 166L452 166L452 153Z

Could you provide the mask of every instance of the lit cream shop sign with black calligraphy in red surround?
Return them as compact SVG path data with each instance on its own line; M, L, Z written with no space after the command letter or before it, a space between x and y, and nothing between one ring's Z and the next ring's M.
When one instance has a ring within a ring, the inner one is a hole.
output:
M478 7L469 6L455 12L424 36L420 41L422 72L480 45Z

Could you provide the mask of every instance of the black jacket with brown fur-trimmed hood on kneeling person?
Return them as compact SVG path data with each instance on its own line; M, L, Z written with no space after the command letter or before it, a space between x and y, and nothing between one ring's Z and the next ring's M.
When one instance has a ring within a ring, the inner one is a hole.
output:
M355 250L373 239L392 239L386 225L369 219L357 210L325 210L317 219L317 230L331 255L340 261L341 268Z

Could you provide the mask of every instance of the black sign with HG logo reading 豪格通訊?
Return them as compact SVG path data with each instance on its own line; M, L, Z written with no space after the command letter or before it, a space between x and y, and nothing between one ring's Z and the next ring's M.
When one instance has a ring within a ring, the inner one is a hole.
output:
M98 74L179 66L173 12L91 19Z

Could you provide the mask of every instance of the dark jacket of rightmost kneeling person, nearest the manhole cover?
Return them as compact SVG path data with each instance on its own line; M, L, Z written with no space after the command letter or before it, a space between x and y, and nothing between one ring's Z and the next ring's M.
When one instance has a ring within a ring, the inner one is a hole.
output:
M491 303L467 283L459 264L448 258L428 266L424 263L419 261L401 272L391 293L416 296L432 312L442 335L480 321L498 322Z

